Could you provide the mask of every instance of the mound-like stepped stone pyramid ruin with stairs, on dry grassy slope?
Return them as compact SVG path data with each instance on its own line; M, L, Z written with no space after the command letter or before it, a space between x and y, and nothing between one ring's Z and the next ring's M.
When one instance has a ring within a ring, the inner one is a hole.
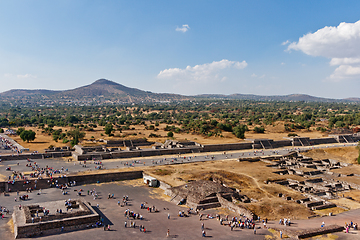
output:
M250 202L246 195L239 194L233 188L225 187L214 181L198 180L187 184L172 187L165 191L171 197L171 202L193 209L205 210L224 207L239 215L253 218L254 214L245 207L238 206L237 202Z

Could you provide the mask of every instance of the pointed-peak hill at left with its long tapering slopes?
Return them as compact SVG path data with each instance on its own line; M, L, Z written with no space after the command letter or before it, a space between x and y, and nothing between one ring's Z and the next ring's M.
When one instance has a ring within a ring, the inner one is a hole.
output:
M129 88L106 79L64 91L13 89L0 93L0 100L11 105L99 105L172 102L194 99L171 93L152 93Z

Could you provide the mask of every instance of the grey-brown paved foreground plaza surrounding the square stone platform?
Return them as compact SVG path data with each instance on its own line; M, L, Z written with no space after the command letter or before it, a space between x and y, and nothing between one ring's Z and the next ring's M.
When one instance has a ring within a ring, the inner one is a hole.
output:
M46 189L42 190L41 195L36 195L36 191L29 194L29 201L21 202L21 204L31 204L36 202L64 200L69 198L78 198L74 189L83 189L85 194L87 190L94 188L100 195L99 199L94 200L90 195L81 197L84 201L90 202L92 206L99 204L99 212L103 215L105 222L111 225L111 231L104 231L102 228L85 229L80 231L44 236L41 239L201 239L201 223L205 224L205 231L207 237L212 239L265 239L265 236L272 236L266 229L258 229L257 234L254 235L251 229L234 229L231 231L228 226L222 226L216 219L206 219L199 221L196 214L191 214L190 217L178 217L179 210L186 208L177 206L173 203L157 198L159 194L158 189L151 189L146 186L130 186L128 182L106 183L106 184L91 184L84 186L76 186L70 189L70 195L64 196L59 189ZM114 193L115 199L107 199L108 193ZM122 199L123 195L129 196L129 204L126 207L119 207L117 202ZM16 193L11 193L10 196L0 196L1 204L12 208L17 206L19 202L14 202ZM140 204L147 202L148 206L155 206L159 212L149 213L146 209L140 209ZM144 225L146 233L140 232L139 228L125 228L124 222L128 220L124 216L126 208L143 215L144 220L135 220L136 225ZM96 207L95 207L96 209ZM170 213L170 219L167 218ZM206 210L204 214L214 214L215 210ZM230 215L231 216L231 215ZM235 216L235 215L234 215ZM6 227L7 219L0 220L0 239L10 240L13 239L12 234ZM260 224L259 224L260 226ZM166 238L167 229L170 230L170 237Z

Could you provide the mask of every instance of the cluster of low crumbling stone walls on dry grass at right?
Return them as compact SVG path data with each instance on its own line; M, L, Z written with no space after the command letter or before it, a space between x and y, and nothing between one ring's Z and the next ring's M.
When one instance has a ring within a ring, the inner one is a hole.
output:
M271 159L265 157L261 160L270 163L270 165L267 165L268 167L279 169L274 172L276 174L304 177L305 180L303 181L288 178L286 180L275 181L275 183L300 192L305 198L295 201L311 210L336 207L335 204L328 200L338 198L338 192L349 191L352 188L351 184L345 181L335 180L334 177L339 177L341 174L331 171L349 166L347 163L332 159L314 160L298 153ZM313 178L314 176L316 177ZM279 194L279 197L294 200L283 194Z

